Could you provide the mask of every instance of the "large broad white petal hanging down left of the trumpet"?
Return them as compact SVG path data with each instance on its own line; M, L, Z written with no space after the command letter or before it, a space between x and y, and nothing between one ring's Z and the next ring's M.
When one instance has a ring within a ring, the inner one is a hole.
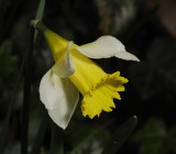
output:
M65 129L77 106L79 91L68 78L58 78L50 69L41 80L40 98L52 120Z

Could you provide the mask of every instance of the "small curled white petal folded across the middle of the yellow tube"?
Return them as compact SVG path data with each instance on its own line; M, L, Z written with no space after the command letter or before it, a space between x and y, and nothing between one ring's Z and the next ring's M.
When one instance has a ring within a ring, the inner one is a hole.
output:
M76 70L74 62L72 61L69 54L69 47L72 46L72 44L73 42L68 43L65 57L53 66L54 73L62 78L73 75Z

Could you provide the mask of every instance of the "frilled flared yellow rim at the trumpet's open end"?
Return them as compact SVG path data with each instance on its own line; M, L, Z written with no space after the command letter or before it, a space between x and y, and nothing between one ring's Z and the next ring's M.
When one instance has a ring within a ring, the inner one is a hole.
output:
M113 99L121 100L119 91L124 91L123 84L128 79L120 76L120 72L101 78L99 82L84 96L81 101L82 116L89 116L91 119L100 116L101 111L110 112L116 108Z

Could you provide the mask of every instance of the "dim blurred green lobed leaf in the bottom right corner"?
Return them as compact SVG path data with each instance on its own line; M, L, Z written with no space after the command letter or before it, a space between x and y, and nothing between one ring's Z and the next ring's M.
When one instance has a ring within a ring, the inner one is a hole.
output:
M176 128L168 130L160 118L150 118L132 140L141 144L140 154L168 154L176 152Z

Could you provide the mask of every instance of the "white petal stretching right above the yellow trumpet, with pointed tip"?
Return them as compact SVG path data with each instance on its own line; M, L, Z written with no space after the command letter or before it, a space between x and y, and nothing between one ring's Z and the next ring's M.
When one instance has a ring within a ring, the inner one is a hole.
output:
M90 58L109 58L116 56L122 59L139 61L134 55L125 52L124 45L118 38L110 35L101 36L92 43L76 48Z

